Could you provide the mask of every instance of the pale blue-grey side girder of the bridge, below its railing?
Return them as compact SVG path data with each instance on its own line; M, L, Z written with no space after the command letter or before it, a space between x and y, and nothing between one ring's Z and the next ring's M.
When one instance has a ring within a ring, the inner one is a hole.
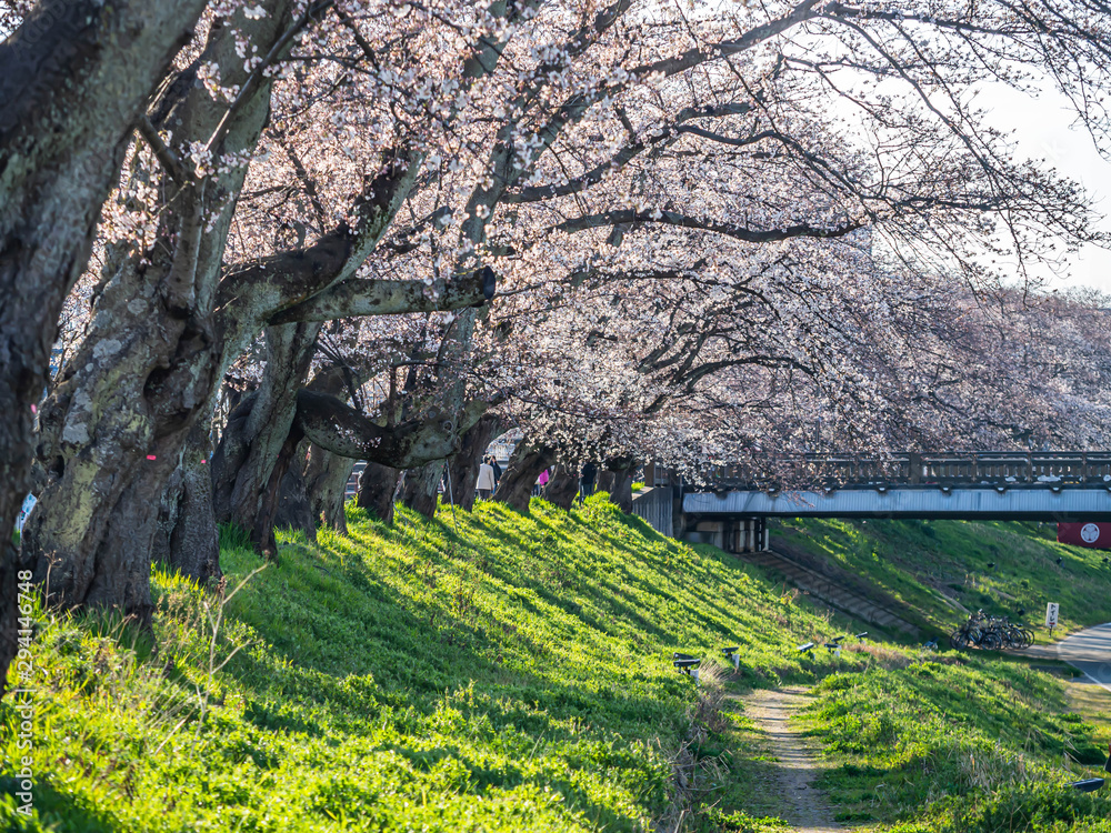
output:
M1069 486L985 489L891 486L770 494L688 492L683 512L705 518L920 518L998 521L1111 521L1111 492Z

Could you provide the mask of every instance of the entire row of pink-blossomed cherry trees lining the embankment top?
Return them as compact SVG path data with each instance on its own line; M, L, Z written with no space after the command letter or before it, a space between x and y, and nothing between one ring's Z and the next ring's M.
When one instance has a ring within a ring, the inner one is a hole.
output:
M1102 2L164 6L0 3L0 672L17 562L144 616L218 522L341 525L354 459L382 514L449 460L466 500L509 425L518 505L588 456L1104 442L1100 302L1030 279L1091 207L973 96L1103 141Z

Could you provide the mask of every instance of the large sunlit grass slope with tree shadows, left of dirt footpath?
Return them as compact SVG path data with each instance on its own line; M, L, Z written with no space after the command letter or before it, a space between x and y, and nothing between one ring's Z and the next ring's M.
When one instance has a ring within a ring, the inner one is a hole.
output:
M648 830L697 721L672 651L740 644L748 686L833 668L794 650L828 616L603 495L349 522L257 574L226 536L217 593L156 571L151 632L38 612L29 751L0 704L33 810L0 776L0 829Z

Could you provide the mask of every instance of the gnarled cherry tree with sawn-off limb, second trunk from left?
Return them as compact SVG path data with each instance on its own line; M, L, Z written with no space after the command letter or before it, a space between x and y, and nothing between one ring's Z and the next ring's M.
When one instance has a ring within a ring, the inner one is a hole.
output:
M443 32L429 27L436 13L396 20L390 3L380 11L327 2L210 10L203 46L150 108L144 143L132 147L128 178L107 212L89 334L40 419L40 455L52 476L23 553L40 579L58 561L51 590L59 601L147 610L158 506L143 495L162 493L224 370L279 313L273 339L311 343L316 322L327 319L312 300L337 288L373 314L450 309L488 291L470 274L388 284L358 277L421 172L426 137L406 118L416 114L427 130L426 110L443 101L450 109L460 79L480 77L498 48L476 36L444 52ZM492 26L492 16L480 17ZM361 24L377 27L381 49L364 48ZM354 69L327 71L349 56L357 56ZM433 68L438 56L443 87L421 89L414 64ZM299 72L302 62L311 71ZM366 143L336 141L387 117L384 136L370 129ZM303 194L320 209L311 241L303 223L287 239L291 227L281 215L260 227L250 201L239 210L244 183L258 198L274 188L276 173L278 188L290 187L283 174L298 181L296 151L283 165L250 165L268 121L263 154L283 148L298 118L329 126L331 163L342 168L332 190ZM257 422L269 425L261 415Z

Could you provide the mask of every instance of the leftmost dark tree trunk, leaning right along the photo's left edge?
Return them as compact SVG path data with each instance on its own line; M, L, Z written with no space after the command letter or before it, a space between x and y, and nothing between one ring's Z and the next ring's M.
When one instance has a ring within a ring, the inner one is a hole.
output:
M16 651L11 530L62 301L137 117L203 0L38 3L0 42L0 694Z

